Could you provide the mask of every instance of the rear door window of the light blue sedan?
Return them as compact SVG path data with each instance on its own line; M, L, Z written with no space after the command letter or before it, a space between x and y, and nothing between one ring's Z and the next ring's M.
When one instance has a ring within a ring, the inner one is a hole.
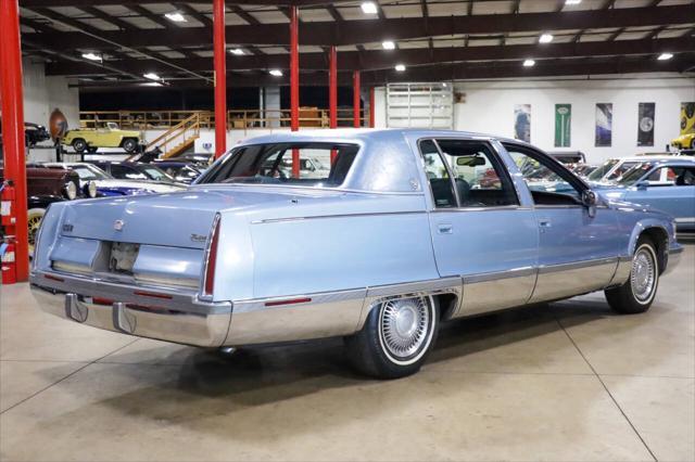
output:
M437 140L453 177L462 207L518 205L511 179L490 144Z

